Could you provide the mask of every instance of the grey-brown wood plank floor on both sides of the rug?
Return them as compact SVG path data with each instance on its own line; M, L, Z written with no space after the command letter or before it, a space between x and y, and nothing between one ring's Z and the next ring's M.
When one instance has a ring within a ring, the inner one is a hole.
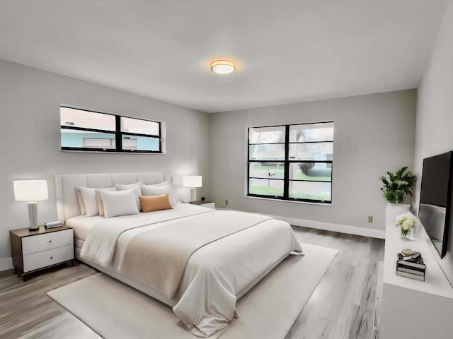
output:
M293 228L300 242L339 252L285 339L378 339L384 240ZM94 273L80 264L49 269L26 283L1 277L0 338L101 338L45 294Z

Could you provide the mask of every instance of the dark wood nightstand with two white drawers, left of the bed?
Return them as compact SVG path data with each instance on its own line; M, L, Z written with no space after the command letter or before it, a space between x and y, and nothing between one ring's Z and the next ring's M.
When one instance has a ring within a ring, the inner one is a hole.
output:
M9 231L14 272L26 281L29 273L71 261L74 265L74 232L63 225L30 231L28 228Z

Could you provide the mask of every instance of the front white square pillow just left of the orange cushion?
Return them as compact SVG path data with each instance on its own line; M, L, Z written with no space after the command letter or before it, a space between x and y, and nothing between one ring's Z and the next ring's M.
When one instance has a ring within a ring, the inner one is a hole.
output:
M113 218L119 215L139 214L133 189L125 191L100 191L104 206L104 217Z

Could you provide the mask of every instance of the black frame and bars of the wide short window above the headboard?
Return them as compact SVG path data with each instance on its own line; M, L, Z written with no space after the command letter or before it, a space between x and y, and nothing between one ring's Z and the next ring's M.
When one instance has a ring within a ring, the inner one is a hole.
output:
M115 131L110 131L107 129L89 129L86 127L76 127L71 125L62 125L61 121L61 114L60 114L60 133L62 129L71 129L76 131L88 131L88 132L98 132L98 133L108 133L115 135L115 148L92 148L92 147L67 147L61 145L61 138L60 138L60 145L63 151L81 151L81 152L96 152L96 153L155 153L155 154L163 154L162 152L162 123L160 121L154 121L150 119L143 119L143 118L136 118L136 117L127 117L125 115L118 115L113 113L106 113L106 112L99 112L93 109L85 109L79 107L71 107L67 105L60 105L60 109L62 108L70 108L70 109L77 109L79 111L84 112L92 112L98 114L105 114L111 115L115 117ZM61 112L61 111L60 111ZM152 134L144 134L144 133L133 133L133 132L124 132L121 131L121 118L128 118L128 119L136 119L142 121L151 121L156 124L159 124L159 136L152 135ZM145 138L157 138L159 139L159 150L124 150L122 149L122 137L123 136L142 136Z

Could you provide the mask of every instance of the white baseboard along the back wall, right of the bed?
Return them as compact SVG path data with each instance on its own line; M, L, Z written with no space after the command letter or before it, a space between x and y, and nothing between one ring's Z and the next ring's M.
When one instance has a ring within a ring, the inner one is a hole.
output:
M346 234L361 235L363 237L372 237L377 239L385 239L385 231L376 230L374 228L355 227L348 225L332 224L330 222L321 222L314 220L304 220L297 218L287 218L280 215L273 215L275 219L283 220L294 226L304 226L315 228L316 230L325 230L340 232Z

